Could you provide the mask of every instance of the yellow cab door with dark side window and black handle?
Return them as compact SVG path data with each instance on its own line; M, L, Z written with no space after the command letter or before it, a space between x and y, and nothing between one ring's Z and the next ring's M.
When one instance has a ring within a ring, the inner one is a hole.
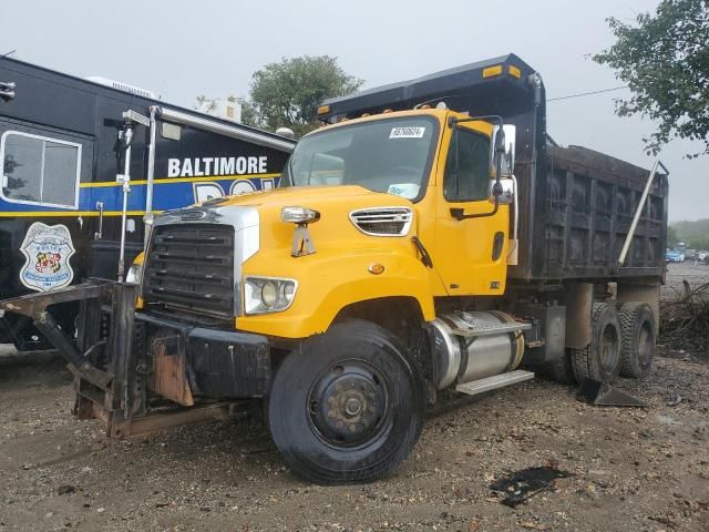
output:
M510 207L501 204L495 211L491 201L491 132L482 122L460 123L449 132L439 174L433 264L451 296L505 289Z

